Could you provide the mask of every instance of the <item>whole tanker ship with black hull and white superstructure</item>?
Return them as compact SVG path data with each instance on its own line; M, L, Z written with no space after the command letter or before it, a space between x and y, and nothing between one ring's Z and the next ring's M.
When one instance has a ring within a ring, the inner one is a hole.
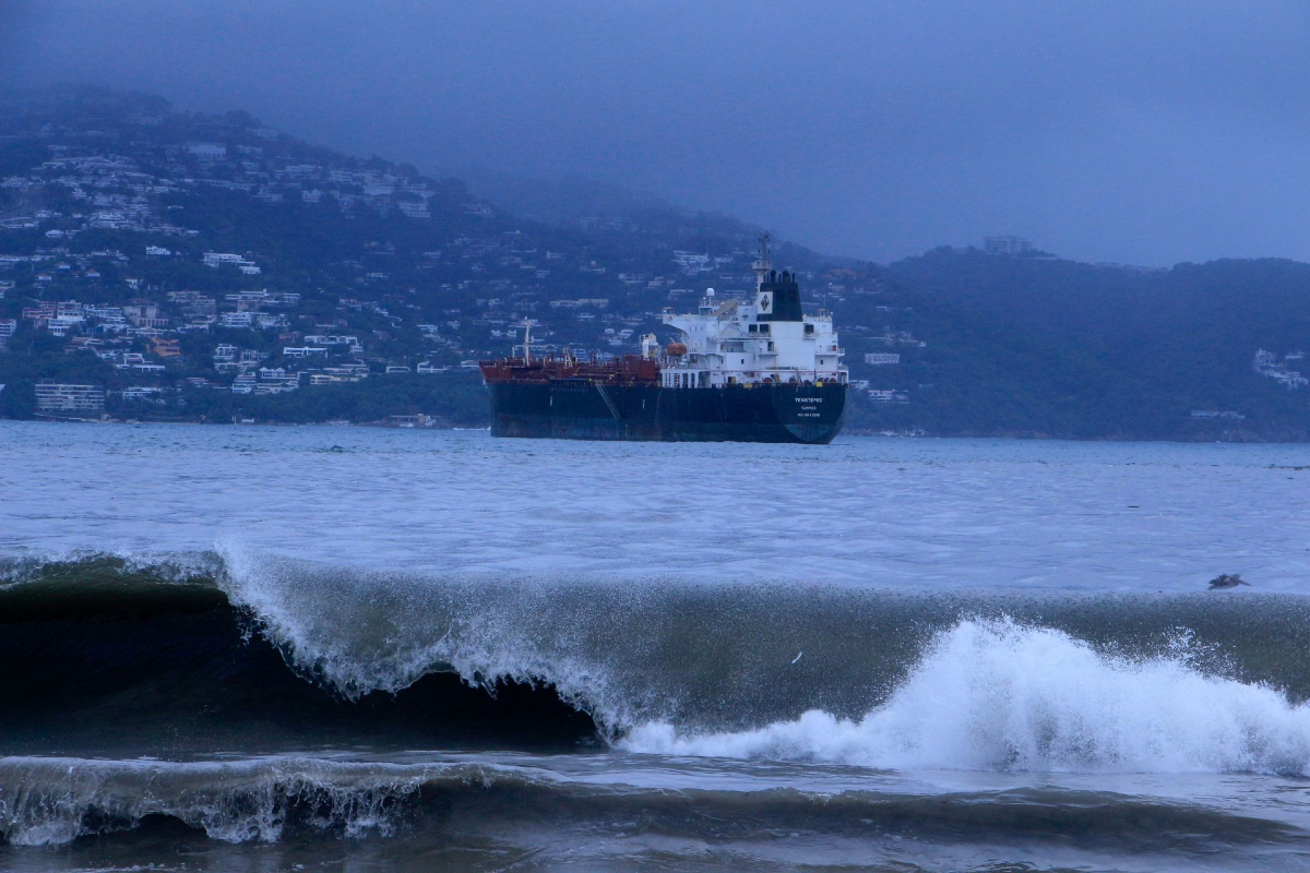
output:
M773 268L760 240L753 297L698 312L665 310L677 338L600 360L534 356L532 323L511 357L479 361L500 437L827 444L841 431L850 381L832 315L806 315L794 274Z

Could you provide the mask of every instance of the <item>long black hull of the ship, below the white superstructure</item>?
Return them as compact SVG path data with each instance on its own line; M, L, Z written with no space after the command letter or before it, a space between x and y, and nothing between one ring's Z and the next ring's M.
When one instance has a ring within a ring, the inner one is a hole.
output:
M845 385L679 389L491 382L491 435L557 440L806 442L841 431Z

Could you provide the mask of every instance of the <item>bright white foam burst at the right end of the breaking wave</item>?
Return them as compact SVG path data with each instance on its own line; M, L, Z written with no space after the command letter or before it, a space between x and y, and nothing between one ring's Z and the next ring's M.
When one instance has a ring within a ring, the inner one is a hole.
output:
M1116 658L1056 630L963 620L859 720L810 711L734 733L639 726L631 751L895 770L1272 772L1310 766L1310 705L1207 675L1186 653Z

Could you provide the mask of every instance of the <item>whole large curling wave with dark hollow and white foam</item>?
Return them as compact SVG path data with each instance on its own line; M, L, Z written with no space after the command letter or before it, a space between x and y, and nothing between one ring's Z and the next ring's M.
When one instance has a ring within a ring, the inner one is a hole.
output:
M1294 597L434 577L224 548L10 564L10 754L576 749L1307 774Z

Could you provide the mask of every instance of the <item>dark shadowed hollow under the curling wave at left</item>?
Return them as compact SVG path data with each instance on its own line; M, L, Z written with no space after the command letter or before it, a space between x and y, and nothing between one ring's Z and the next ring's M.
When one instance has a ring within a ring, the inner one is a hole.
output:
M596 741L586 712L527 673L523 682L465 679L432 661L403 681L338 686L321 661L234 602L225 572L173 568L100 556L9 575L0 588L5 751L173 757L359 742L540 749ZM338 632L354 630L343 623Z

